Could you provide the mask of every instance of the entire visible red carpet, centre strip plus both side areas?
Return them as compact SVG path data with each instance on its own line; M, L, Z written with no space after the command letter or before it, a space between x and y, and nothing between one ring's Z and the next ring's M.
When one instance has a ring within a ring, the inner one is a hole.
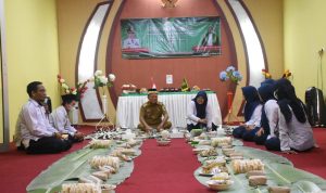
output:
M80 128L84 132L90 132L92 127ZM323 178L326 178L326 129L314 129L314 134L319 149L297 155L284 155L288 157L297 168L304 169ZM191 193L210 192L201 185L192 176L200 164L196 155L184 140L174 140L168 146L156 146L154 140L147 140L141 147L142 154L135 160L135 170L129 179L122 183L118 193ZM27 184L53 162L72 153L87 144L87 141L75 144L70 151L51 155L27 155L18 152L13 146L9 152L0 153L0 188L1 193L26 192ZM263 149L253 143L244 143L248 146ZM279 154L279 153L277 153Z

